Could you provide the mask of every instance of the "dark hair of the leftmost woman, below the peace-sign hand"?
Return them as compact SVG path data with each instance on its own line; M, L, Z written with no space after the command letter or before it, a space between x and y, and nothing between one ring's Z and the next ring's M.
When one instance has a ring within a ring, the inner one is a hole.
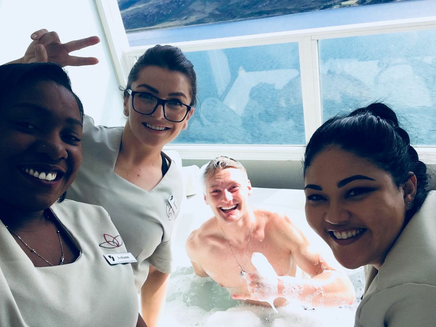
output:
M23 86L28 87L40 81L54 82L71 92L77 102L83 123L83 105L71 88L70 78L60 65L51 62L0 65L0 111L10 94L19 92ZM66 194L65 191L58 201L64 201Z

